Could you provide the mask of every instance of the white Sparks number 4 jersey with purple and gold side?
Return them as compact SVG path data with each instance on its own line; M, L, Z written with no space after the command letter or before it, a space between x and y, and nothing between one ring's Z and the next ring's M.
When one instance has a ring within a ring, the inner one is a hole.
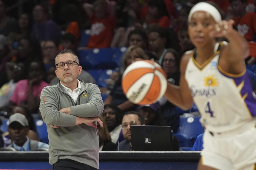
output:
M185 78L199 112L209 131L224 132L245 124L255 126L256 97L249 76L226 73L218 65L219 51L199 65L193 53Z

